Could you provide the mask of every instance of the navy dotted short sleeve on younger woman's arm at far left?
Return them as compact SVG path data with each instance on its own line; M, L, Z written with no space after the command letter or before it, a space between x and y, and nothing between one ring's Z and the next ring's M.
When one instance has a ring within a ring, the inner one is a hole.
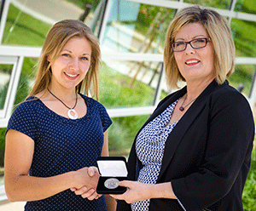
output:
M9 129L14 129L22 134L26 134L32 140L35 140L36 124L35 124L35 109L31 101L21 103L9 118L9 123L6 133Z

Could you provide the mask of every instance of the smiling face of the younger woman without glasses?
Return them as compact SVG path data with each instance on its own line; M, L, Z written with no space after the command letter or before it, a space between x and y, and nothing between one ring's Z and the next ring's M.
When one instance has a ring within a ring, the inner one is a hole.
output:
M71 38L51 64L51 85L58 88L75 88L90 68L91 46L85 37Z

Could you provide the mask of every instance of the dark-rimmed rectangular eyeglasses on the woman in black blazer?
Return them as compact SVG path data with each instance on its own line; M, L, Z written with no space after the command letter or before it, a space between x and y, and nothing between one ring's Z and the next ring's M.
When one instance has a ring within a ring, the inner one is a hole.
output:
M171 44L172 50L174 52L183 51L187 48L187 44L189 44L192 48L205 48L207 43L210 42L210 38L197 38L193 39L189 42L175 42Z

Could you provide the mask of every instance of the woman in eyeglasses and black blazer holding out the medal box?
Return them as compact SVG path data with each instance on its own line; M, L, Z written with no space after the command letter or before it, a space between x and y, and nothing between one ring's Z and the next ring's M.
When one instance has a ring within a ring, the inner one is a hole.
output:
M227 78L235 46L211 9L181 9L166 33L167 82L177 88L138 132L117 210L243 210L254 123L247 99Z

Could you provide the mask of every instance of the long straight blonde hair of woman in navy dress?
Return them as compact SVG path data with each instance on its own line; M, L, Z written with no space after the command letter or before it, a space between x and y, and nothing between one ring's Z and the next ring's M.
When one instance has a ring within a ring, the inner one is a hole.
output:
M76 87L77 92L84 89L85 94L92 94L98 100L98 74L101 51L97 38L93 35L89 26L80 20L61 20L50 28L44 41L42 54L38 60L38 75L32 91L29 95L35 95L49 87L51 82L51 69L48 60L49 54L53 55L53 61L60 54L61 49L72 37L85 37L91 46L90 68L84 80Z

